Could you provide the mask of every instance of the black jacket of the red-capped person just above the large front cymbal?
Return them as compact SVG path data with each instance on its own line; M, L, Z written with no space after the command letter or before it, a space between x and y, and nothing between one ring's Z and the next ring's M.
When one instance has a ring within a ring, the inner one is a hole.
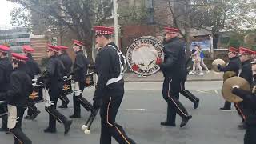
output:
M239 74L239 77L245 78L247 82L249 82L250 86L253 81L253 71L251 70L250 60L246 62L242 62L242 70Z

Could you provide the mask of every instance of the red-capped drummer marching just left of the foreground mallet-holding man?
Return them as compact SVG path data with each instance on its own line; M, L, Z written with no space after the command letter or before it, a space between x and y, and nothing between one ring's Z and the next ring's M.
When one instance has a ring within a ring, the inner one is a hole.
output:
M74 60L73 71L70 73L72 75L72 80L78 83L78 90L74 90L73 94L73 102L74 102L74 114L70 115L70 118L81 118L81 108L82 105L86 110L92 110L92 105L90 102L86 100L86 98L82 97L82 92L86 86L86 73L90 61L83 54L83 42L79 42L74 40L73 50L76 53L76 57Z

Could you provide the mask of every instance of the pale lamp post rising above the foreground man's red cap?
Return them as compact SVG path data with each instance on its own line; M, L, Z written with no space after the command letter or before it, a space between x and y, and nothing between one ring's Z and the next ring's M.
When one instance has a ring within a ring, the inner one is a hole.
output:
M114 7L114 39L117 46L119 46L119 33L118 33L118 3L117 0L113 0Z

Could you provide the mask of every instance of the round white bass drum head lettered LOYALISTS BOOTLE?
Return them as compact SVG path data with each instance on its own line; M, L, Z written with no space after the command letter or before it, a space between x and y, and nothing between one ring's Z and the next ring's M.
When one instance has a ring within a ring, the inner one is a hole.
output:
M164 60L162 42L158 38L144 36L134 40L127 49L126 61L130 69L138 75L149 76L160 70L156 61Z

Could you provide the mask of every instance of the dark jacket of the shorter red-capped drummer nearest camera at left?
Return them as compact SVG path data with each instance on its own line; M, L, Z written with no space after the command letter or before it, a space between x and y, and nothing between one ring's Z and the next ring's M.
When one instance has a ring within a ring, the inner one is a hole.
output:
M26 74L26 66L15 68L10 74L10 90L7 91L7 103L13 106L26 107L32 90L32 80Z

